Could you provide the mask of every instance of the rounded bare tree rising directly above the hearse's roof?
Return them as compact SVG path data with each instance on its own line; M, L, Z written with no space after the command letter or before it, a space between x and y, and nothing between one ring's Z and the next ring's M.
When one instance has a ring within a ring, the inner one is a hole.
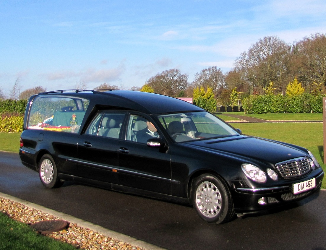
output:
M167 96L178 96L188 87L188 75L181 74L179 69L169 69L146 81L154 89L155 93Z

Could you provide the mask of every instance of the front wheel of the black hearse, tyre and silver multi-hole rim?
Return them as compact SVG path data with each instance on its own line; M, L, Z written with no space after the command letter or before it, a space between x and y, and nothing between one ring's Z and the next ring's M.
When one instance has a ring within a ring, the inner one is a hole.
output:
M192 204L196 212L208 223L221 224L234 216L230 190L218 176L202 174L192 184Z

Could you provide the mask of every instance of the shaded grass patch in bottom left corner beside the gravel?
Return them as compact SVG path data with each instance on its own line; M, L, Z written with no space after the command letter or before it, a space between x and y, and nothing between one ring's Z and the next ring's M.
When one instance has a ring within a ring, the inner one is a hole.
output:
M72 250L72 245L56 241L37 234L27 224L15 221L6 214L0 213L0 249L15 250Z

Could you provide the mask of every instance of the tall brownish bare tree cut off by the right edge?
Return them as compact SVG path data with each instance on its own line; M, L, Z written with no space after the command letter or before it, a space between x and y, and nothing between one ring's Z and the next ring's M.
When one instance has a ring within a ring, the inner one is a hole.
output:
M307 88L312 82L326 85L326 36L316 33L293 46L292 71Z

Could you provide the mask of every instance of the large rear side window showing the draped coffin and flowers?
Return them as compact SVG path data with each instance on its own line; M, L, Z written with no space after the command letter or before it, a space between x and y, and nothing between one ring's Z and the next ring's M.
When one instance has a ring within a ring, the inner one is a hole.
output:
M37 96L31 105L27 128L78 133L88 104L83 98Z

